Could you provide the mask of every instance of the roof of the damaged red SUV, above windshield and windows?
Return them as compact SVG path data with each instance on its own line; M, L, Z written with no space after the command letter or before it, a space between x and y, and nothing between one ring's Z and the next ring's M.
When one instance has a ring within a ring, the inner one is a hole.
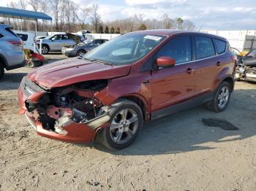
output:
M224 41L227 41L227 39L217 36L214 34L206 34L199 31L184 31L184 30L175 30L175 29L155 29L155 30L145 30L145 31L135 31L132 33L137 34L156 34L156 35L165 35L165 36L175 36L178 34L192 34L192 35L204 35L204 36L210 36L217 39L222 39Z

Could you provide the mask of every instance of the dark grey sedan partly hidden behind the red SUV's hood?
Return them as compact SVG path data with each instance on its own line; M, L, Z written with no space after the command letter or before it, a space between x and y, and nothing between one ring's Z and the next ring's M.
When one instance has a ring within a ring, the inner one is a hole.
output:
M88 44L80 43L73 46L63 47L61 52L63 55L67 55L68 57L82 56L86 52L93 50L95 47L107 41L108 39L94 39Z

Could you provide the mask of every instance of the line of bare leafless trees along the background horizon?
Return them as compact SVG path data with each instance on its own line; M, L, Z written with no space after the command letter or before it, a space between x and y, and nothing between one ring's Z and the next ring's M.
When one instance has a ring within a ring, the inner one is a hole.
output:
M47 21L37 22L37 31L69 31L76 32L88 30L93 33L101 34L120 34L130 31L146 29L182 29L195 30L195 24L190 20L181 18L172 19L166 13L157 19L146 19L145 14L135 14L121 20L102 21L99 15L99 5L93 4L91 7L81 7L72 0L19 0L11 1L8 7L18 9L32 9L36 12L45 12L53 17L53 24ZM35 25L31 21L5 19L4 23L12 24L13 28L23 30L35 30ZM50 28L52 27L52 28Z

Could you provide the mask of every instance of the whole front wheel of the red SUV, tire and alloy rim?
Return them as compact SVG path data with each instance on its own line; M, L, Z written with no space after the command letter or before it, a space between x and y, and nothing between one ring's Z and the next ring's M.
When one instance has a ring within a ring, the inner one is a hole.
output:
M108 149L124 149L132 144L140 133L143 127L143 113L137 104L127 99L120 99L112 106L110 126L99 132L99 140Z

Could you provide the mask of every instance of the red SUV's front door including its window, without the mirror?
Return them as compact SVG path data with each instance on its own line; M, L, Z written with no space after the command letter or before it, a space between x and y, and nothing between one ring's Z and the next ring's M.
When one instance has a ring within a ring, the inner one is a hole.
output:
M191 37L178 36L172 39L157 52L156 58L160 56L176 59L176 66L152 72L151 112L187 101L195 95L196 71L191 63Z

